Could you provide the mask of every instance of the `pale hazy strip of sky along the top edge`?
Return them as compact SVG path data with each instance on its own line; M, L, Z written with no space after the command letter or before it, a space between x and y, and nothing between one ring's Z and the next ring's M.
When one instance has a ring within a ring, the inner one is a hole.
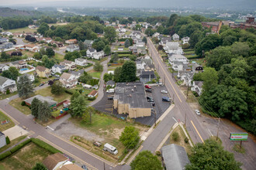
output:
M255 0L0 0L0 5L52 6L52 7L227 7L255 8Z

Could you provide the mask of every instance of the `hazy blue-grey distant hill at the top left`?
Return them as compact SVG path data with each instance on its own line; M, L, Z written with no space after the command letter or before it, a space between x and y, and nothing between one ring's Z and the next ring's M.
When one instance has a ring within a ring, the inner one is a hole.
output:
M0 16L2 17L9 17L9 16L30 16L33 15L34 12L29 11L22 11L18 9L12 9L12 8L0 8Z

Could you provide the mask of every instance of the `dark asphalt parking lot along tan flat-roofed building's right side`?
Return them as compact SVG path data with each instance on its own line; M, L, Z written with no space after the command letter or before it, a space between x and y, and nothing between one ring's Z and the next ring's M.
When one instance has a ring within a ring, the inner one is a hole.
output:
M148 93L147 97L153 97L155 106L152 107L152 114L150 117L138 117L135 119L136 122L139 122L140 124L150 125L152 126L154 124L154 110L156 112L156 120L161 117L162 114L164 114L164 111L170 107L171 102L164 102L162 101L162 97L170 97L168 93L161 93L161 90L166 90L165 86L160 87L152 87L152 93Z

